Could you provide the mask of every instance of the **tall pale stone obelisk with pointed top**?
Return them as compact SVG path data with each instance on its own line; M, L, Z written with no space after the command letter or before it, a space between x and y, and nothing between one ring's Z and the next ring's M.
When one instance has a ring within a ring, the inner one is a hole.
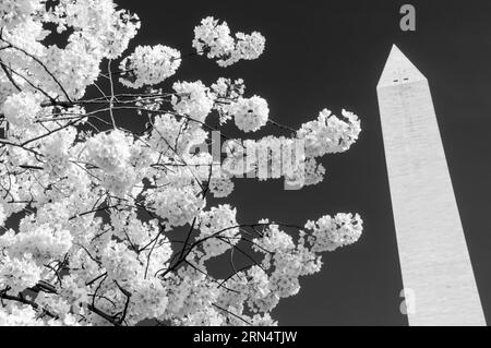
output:
M486 325L428 81L394 45L376 92L409 325Z

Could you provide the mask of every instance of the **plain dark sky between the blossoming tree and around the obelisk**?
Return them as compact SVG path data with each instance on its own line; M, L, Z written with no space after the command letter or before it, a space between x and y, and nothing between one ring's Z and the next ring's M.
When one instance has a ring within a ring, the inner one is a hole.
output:
M129 1L142 19L134 44L191 52L193 28L207 15L232 31L260 31L265 53L220 69L185 60L176 79L242 77L247 95L265 97L271 117L298 128L325 107L357 112L359 142L325 157L326 180L302 191L282 182L239 180L231 203L241 223L262 217L303 224L324 214L358 212L364 235L324 256L296 297L275 310L282 325L407 325L375 86L393 43L428 77L481 301L491 323L491 1ZM416 33L399 29L399 8L417 11ZM165 86L169 87L169 85ZM233 135L233 128L230 128ZM268 132L277 133L274 128ZM434 217L439 219L439 216Z

